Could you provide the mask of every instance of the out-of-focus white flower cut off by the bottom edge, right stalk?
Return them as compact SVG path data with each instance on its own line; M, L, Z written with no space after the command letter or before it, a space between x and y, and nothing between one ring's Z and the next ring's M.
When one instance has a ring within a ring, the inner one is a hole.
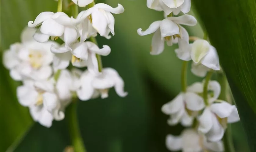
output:
M199 135L193 129L185 129L180 136L168 135L166 147L171 151L182 152L224 151L222 141L208 142L203 135Z

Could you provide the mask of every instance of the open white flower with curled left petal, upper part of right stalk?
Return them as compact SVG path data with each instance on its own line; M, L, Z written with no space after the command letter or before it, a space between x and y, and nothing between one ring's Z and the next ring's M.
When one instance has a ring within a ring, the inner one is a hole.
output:
M189 47L189 35L187 30L182 25L194 26L197 24L197 20L191 15L182 15L178 17L167 17L162 21L155 21L151 23L149 28L144 32L142 29L138 29L137 33L140 36L154 33L151 43L151 54L157 55L164 50L164 40L166 40L168 46L172 46L172 43L179 43L180 47Z

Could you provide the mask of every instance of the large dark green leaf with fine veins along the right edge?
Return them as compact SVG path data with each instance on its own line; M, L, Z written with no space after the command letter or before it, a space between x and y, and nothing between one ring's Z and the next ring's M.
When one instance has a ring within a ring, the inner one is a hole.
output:
M256 1L194 0L216 47L247 134L256 151Z

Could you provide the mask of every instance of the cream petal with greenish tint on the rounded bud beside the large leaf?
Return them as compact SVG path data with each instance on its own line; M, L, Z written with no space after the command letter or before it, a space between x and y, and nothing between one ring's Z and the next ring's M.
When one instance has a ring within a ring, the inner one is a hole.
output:
M191 58L197 64L202 58L208 54L210 50L210 44L206 40L196 40L191 47Z

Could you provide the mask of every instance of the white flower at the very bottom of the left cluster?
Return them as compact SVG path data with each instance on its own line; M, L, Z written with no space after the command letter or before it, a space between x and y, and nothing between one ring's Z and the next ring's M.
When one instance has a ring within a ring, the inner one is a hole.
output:
M29 107L32 118L43 126L50 127L53 119L65 117L52 81L24 81L17 88L17 97L21 105Z

